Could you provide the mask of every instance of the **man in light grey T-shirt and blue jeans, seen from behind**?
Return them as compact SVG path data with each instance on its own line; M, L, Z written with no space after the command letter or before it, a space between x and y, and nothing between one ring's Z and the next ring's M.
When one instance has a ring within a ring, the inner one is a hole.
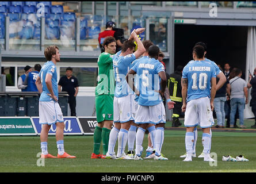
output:
M239 68L234 68L230 74L230 128L234 128L235 113L238 108L239 113L239 128L246 128L243 123L244 105L248 104L248 90L244 79L241 78L242 71ZM246 98L244 102L244 97Z

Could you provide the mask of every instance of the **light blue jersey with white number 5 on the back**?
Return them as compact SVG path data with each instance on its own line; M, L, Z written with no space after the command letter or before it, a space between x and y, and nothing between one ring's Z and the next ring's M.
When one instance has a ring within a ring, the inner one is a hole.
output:
M162 101L159 94L160 81L159 72L165 71L161 62L154 58L145 58L137 62L132 70L136 72L140 91L138 104L142 106L157 105Z

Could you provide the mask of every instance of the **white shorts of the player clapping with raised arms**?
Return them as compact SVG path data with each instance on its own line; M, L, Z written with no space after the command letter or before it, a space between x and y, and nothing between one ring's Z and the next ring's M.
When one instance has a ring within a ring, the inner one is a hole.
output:
M114 122L128 122L135 117L134 98L132 94L114 97Z

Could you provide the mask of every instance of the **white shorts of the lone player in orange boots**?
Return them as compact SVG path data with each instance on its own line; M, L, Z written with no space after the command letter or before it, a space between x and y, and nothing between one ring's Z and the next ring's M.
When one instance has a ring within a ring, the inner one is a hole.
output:
M64 122L59 103L55 101L39 101L39 124L51 125L56 122Z

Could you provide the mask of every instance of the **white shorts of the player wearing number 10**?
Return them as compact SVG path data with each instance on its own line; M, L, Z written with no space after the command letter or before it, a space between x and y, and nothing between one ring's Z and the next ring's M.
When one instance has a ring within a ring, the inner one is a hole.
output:
M214 124L211 104L208 97L193 99L186 105L184 125L185 127L209 128Z

